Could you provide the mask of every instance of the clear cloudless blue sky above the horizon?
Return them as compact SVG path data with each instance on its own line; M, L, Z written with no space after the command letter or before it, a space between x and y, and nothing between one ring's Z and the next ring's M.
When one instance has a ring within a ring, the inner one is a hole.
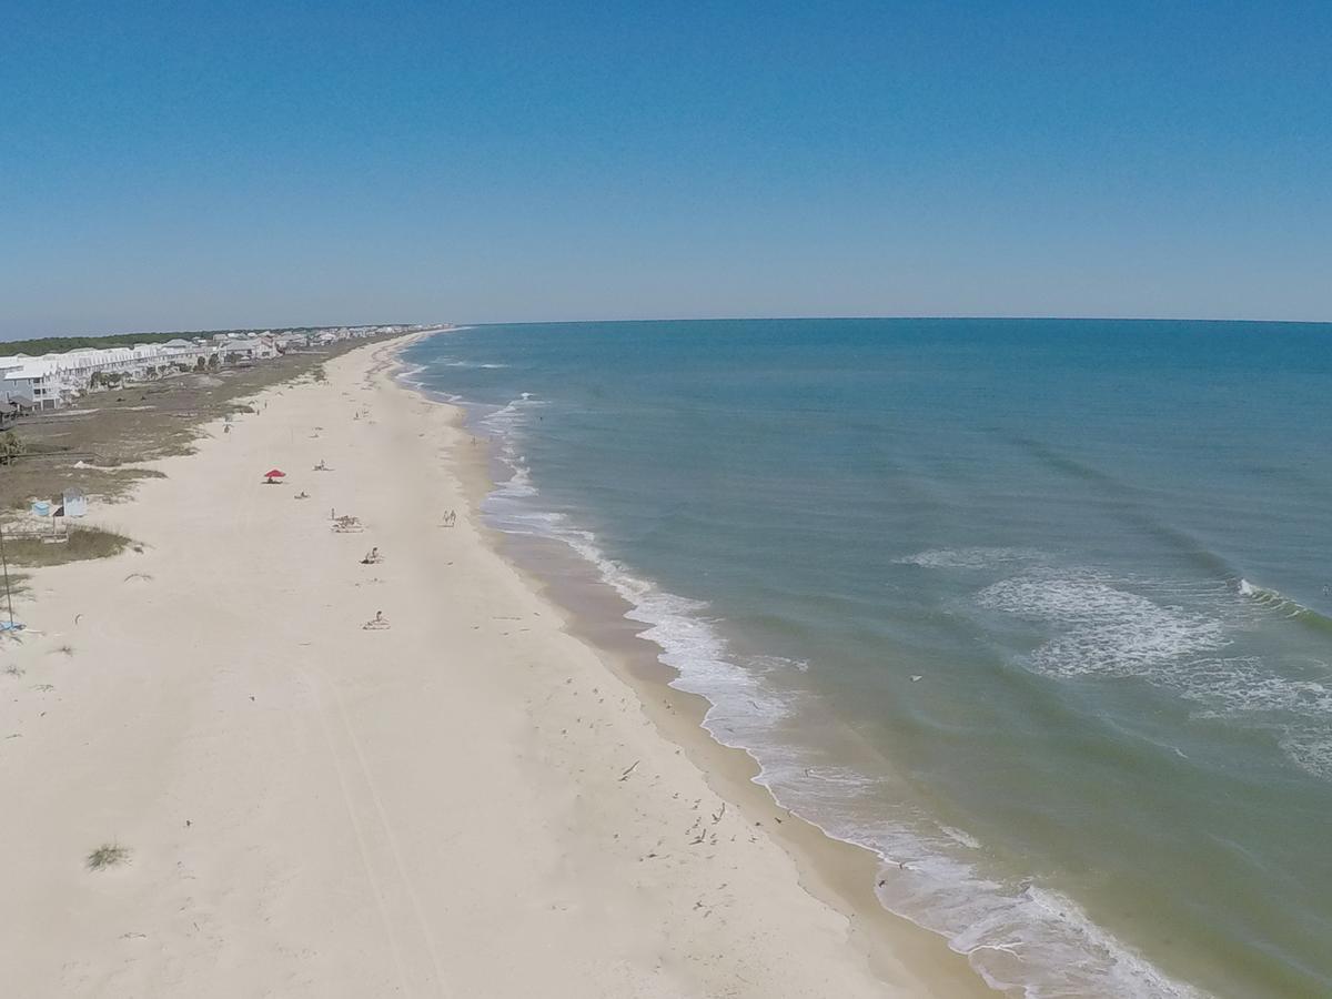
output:
M1332 4L52 3L0 337L1332 320Z

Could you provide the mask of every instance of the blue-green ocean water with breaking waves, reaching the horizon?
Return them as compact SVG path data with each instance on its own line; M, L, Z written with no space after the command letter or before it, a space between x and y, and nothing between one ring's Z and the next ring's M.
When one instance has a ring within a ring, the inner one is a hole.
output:
M408 378L883 904L1030 996L1332 995L1332 325L478 326Z

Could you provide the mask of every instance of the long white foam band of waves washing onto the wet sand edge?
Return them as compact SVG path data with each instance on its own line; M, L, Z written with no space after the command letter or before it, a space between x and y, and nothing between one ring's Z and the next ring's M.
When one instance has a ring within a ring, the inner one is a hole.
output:
M703 726L713 738L749 753L761 769L755 781L779 805L829 835L883 858L879 896L887 908L946 936L994 987L1030 999L1196 995L1102 934L1067 899L987 878L978 859L983 846L964 831L936 826L914 811L886 815L892 797L884 794L880 778L836 763L814 763L815 747L778 741L774 726L801 717L807 706L798 694L769 679L803 671L809 662L734 655L709 618L706 603L662 590L610 558L593 533L561 513L535 507L539 490L521 457L522 425L533 402L525 394L478 421L496 436L501 457L513 468L509 481L488 500L492 522L513 533L558 538L594 565L631 605L626 617L645 626L641 635L655 642L661 661L678 673L671 686L709 701ZM1042 555L1024 549L959 549L914 558L928 567L983 567L1039 561ZM1050 607L1060 605L1058 595L1044 601ZM1187 627L1183 631L1189 633Z

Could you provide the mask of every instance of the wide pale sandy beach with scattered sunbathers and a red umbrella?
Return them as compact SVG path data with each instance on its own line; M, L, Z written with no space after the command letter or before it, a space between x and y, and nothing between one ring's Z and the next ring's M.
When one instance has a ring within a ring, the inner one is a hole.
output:
M141 550L33 573L0 675L8 994L980 992L496 550L478 445L394 350L153 462L91 517Z

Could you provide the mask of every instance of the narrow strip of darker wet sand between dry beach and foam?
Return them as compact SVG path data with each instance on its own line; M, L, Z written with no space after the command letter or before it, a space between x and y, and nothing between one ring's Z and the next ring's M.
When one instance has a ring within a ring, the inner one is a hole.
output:
M396 346L394 353L401 354L408 346L410 344ZM685 750L709 786L739 807L753 825L762 823L791 855L802 887L850 920L851 942L876 974L891 983L894 966L906 960L927 967L931 987L950 999L999 995L943 936L883 907L874 892L882 858L866 847L831 836L779 805L771 791L754 779L761 773L754 757L745 749L717 741L707 731L703 721L711 702L702 694L671 686L679 673L659 661L661 646L642 637L642 623L626 617L633 605L603 582L591 563L558 539L510 534L485 523L481 503L498 485L494 476L498 465L489 438L468 429L464 406L408 384L404 365L400 358L390 373L394 382L404 392L448 409L453 425L474 442L457 470L465 484L469 515L492 549L562 614L563 629L570 635L585 642L607 670L635 691L657 730Z

